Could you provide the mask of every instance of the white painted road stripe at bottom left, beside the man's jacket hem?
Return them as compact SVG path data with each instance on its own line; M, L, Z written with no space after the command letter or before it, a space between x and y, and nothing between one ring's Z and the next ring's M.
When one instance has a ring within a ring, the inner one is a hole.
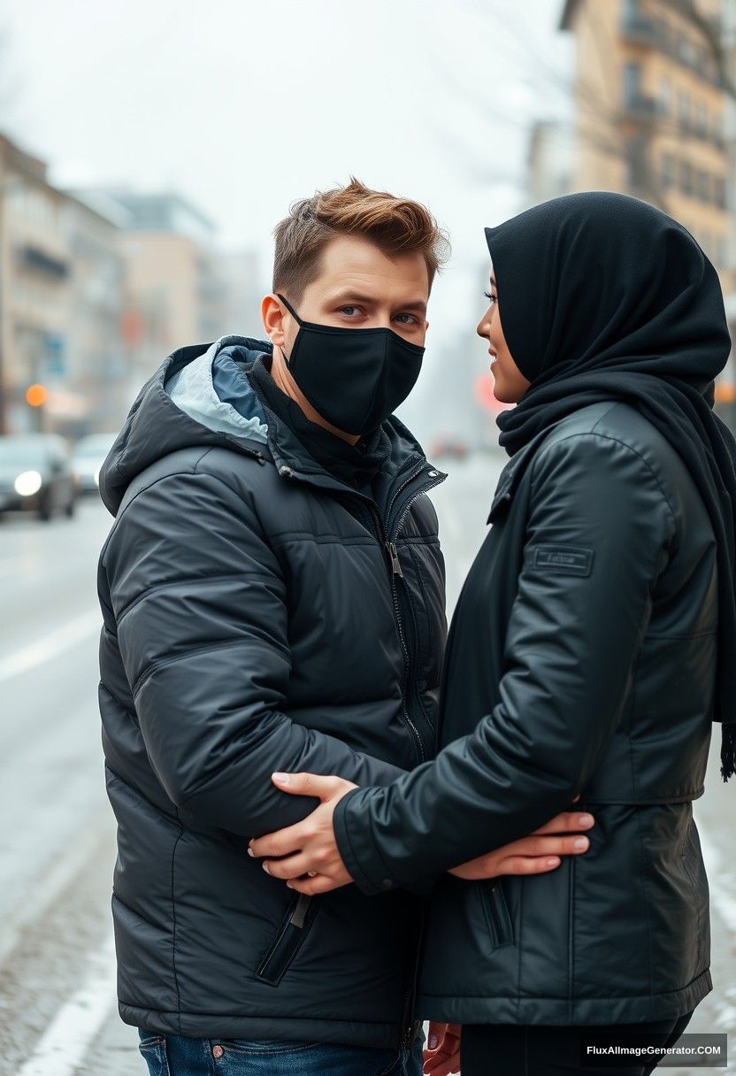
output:
M111 935L89 958L84 982L56 1014L17 1076L69 1076L79 1068L115 997L115 948Z

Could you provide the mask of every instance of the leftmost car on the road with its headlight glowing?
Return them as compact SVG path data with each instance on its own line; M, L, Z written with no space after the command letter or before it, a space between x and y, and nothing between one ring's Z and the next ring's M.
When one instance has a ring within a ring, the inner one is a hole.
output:
M67 442L55 434L0 437L0 512L74 514L76 479Z

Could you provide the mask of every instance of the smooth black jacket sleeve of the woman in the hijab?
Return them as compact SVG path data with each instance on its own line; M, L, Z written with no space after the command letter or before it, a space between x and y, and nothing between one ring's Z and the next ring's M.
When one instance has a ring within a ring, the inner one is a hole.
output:
M572 435L532 467L500 702L434 762L340 801L338 845L364 893L426 892L569 809L622 717L673 510L646 461L607 436Z

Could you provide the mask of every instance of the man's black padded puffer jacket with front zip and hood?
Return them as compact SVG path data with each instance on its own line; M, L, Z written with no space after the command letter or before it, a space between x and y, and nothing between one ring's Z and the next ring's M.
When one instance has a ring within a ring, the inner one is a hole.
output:
M190 1036L406 1045L417 898L299 897L246 846L315 806L275 769L382 784L434 755L444 579L424 494L444 476L395 419L376 502L266 408L267 445L208 429L164 388L204 350L143 386L100 482L119 1013Z

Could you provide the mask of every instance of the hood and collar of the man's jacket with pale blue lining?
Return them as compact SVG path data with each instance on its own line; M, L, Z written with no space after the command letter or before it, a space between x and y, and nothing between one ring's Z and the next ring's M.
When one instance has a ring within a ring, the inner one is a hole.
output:
M198 445L236 449L299 471L315 484L334 484L295 435L260 404L244 377L256 359L271 353L270 341L231 335L168 355L140 390L100 468L100 496L108 510L117 513L130 482L151 464ZM383 428L391 440L385 476L391 485L425 455L395 415Z

